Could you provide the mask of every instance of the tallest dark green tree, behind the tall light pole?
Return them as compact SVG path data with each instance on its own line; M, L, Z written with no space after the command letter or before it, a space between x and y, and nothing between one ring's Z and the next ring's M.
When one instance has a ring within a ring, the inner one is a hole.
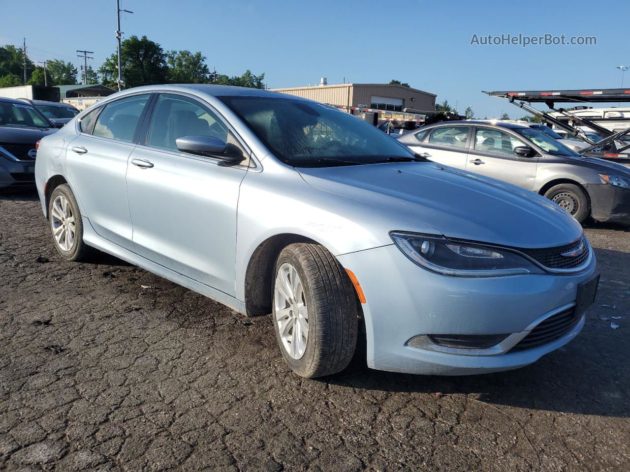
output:
M146 36L131 36L121 45L122 78L125 88L168 82L169 70L163 48ZM103 84L117 87L118 58L113 53L103 62L98 72Z

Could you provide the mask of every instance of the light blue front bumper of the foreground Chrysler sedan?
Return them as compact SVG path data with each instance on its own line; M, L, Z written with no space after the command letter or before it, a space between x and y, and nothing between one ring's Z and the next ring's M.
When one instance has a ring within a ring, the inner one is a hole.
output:
M583 327L583 316L559 339L524 351L464 355L408 345L413 337L425 334L516 334L532 329L551 313L575 304L578 284L594 276L596 264L593 257L576 275L459 278L416 266L396 245L338 259L357 276L365 293L368 366L440 375L516 369L569 342Z

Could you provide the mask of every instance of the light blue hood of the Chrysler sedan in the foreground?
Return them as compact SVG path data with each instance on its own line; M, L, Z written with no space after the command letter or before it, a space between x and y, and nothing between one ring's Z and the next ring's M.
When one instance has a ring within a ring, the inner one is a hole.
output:
M583 232L542 196L430 162L297 170L314 188L382 208L388 230L419 222L451 238L524 248L567 244Z

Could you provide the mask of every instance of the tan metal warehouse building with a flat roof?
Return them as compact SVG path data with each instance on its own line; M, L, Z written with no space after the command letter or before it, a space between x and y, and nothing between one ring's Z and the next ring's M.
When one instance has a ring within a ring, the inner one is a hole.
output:
M325 81L325 79L323 79ZM435 110L435 94L398 84L338 84L272 89L331 105L367 106L379 110Z

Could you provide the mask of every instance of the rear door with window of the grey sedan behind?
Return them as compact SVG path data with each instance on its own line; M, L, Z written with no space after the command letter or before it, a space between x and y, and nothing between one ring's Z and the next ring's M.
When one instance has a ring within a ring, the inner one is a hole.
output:
M407 145L418 154L427 153L430 160L466 169L470 128L468 125L444 125L421 130L414 135L418 145Z

